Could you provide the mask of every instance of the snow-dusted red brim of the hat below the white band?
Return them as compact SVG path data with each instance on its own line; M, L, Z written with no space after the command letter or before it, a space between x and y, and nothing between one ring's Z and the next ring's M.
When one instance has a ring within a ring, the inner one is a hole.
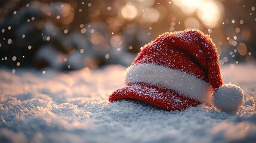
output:
M193 107L199 104L196 100L181 97L175 91L144 83L128 84L128 86L116 90L109 97L110 102L127 98L146 101L166 110L184 110L187 107Z

